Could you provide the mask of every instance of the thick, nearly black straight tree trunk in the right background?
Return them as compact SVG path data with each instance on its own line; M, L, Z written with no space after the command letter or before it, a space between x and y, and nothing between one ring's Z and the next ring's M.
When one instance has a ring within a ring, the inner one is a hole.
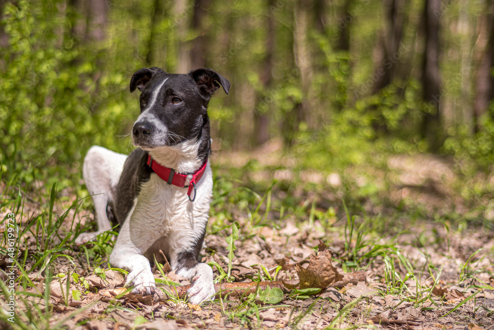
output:
M441 76L439 71L439 16L441 0L425 0L424 34L425 48L422 59L422 98L425 115L422 118L421 133L427 139L432 151L439 149L441 124Z

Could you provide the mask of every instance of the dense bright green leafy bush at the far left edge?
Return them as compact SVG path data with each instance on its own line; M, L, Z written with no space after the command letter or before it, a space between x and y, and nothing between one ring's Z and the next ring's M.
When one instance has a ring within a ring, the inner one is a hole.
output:
M59 31L69 22L56 12L57 3L50 1L20 1L4 8L9 47L0 70L0 148L11 171L29 163L38 168L49 159L70 164L81 157L82 150L74 145L92 133L85 125L90 113L81 87L87 84L82 77L92 71L93 58L71 65L80 51L73 36Z

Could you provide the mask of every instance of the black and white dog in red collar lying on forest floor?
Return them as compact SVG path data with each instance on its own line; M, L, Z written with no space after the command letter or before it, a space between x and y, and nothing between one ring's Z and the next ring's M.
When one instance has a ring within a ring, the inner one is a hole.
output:
M194 282L191 303L215 293L212 269L198 255L213 186L207 104L220 85L228 94L230 82L211 69L137 71L130 92L141 91L141 114L132 128L138 148L126 156L93 146L84 159L98 231L82 233L76 243L110 230L112 218L120 223L110 264L129 272L126 285L135 285L134 293L154 291L150 261L160 260L159 250L177 274Z

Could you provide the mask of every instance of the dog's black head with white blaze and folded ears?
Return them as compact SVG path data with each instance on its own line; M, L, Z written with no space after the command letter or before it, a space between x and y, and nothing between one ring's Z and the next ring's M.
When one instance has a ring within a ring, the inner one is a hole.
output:
M141 92L141 115L132 128L132 143L152 150L197 139L205 125L209 129L207 103L220 85L228 94L230 82L211 69L188 74L140 69L130 80L130 92Z

